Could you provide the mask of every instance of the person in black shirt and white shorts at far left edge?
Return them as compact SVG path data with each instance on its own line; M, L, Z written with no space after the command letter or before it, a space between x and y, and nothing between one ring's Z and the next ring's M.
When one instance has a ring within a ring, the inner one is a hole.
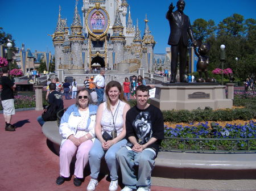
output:
M14 90L16 85L9 78L9 69L6 66L2 67L3 75L1 77L1 102L3 107L3 118L5 118L5 130L15 131L15 126L11 125L11 118L15 114L14 108Z

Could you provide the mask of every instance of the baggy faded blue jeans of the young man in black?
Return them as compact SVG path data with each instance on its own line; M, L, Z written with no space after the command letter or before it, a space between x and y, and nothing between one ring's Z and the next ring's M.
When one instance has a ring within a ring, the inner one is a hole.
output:
M155 166L155 154L149 150L134 152L122 147L117 151L117 160L122 172L122 182L131 189L151 186L151 172ZM138 177L134 166L138 165Z

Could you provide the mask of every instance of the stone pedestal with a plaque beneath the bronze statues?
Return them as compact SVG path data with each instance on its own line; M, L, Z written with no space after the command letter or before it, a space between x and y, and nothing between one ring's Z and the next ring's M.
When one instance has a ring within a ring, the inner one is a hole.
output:
M163 83L156 85L151 104L161 110L232 108L232 99L226 99L225 86L217 83Z

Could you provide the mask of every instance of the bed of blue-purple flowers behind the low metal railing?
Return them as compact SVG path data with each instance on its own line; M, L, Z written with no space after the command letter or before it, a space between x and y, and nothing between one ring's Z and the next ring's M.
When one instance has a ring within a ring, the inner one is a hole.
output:
M165 139L162 150L195 151L195 152L255 152L256 122L249 121L244 125L226 124L210 127L209 122L198 124L176 125L175 128L165 125Z

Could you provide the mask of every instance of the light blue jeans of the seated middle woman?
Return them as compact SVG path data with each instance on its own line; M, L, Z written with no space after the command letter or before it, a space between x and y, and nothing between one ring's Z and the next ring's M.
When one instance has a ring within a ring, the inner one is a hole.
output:
M98 179L98 174L100 173L101 159L105 155L105 160L109 168L110 179L117 180L117 171L119 168L117 159L115 158L115 153L127 143L126 139L112 145L107 151L103 150L101 142L95 139L92 148L89 152L89 163L90 163L90 176L93 179Z

